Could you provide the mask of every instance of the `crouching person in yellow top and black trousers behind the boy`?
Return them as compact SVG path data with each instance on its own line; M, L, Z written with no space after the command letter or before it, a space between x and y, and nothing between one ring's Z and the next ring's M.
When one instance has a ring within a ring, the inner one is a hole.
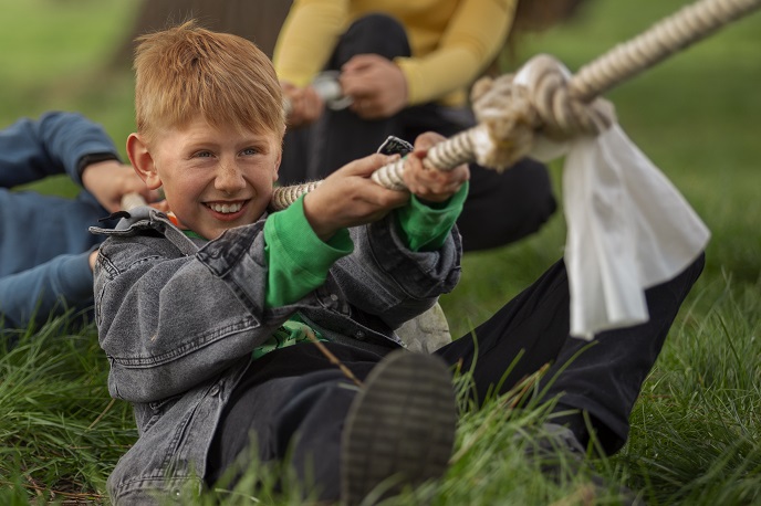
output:
M517 0L295 0L273 62L290 102L281 183L323 179L388 136L450 137L475 125L468 88L504 45ZM334 71L344 108L314 88ZM458 220L465 251L517 241L556 209L546 167L471 165Z

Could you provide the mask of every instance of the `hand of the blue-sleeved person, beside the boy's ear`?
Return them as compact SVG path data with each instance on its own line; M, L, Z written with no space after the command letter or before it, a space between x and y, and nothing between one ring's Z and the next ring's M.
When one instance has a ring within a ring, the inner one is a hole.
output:
M139 193L147 202L159 199L158 191L148 190L129 165L117 160L98 161L84 168L82 185L108 212L121 209L122 198Z

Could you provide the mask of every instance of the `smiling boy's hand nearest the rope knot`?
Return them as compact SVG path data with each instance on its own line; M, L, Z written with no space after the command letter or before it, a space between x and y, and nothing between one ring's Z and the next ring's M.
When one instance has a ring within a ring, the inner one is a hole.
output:
M452 170L428 169L423 165L428 150L442 140L444 136L432 131L421 134L415 139L415 150L405 159L402 178L407 189L423 201L444 202L470 178L466 164Z

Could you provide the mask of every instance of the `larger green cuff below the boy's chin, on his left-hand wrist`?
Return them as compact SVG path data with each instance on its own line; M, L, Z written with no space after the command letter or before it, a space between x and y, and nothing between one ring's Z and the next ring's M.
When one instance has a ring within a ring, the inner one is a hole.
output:
M325 282L336 260L354 251L348 230L323 242L304 217L303 197L264 223L264 256L269 265L267 307L293 304Z

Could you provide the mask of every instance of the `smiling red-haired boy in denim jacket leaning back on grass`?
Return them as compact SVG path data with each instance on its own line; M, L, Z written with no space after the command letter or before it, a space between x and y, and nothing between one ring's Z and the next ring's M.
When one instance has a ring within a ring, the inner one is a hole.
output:
M394 159L376 154L268 213L285 128L269 60L192 22L138 42L127 151L173 215L142 207L115 230L92 229L110 235L95 266L108 388L133 404L139 432L108 478L115 504L187 502L252 451L285 461L311 498L348 505L382 484L394 494L436 478L455 440L456 365L478 404L550 362L538 391L562 396L555 433L576 446L596 436L607 452L624 444L702 257L648 289L648 323L594 346L569 336L560 261L476 328L478 346L466 336L435 355L402 350L395 329L459 280L467 166L424 169L441 139L424 134L406 158L409 191L372 181Z

